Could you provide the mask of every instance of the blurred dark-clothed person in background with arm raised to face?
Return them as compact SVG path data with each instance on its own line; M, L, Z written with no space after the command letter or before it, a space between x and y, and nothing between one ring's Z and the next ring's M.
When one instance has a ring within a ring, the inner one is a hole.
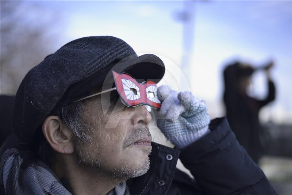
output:
M252 67L250 64L235 62L224 70L224 103L226 116L236 139L256 162L263 155L260 133L264 131L259 122L259 111L275 99L275 85L270 76L271 61L262 67ZM263 70L267 76L268 94L263 100L248 96L246 93L251 83L251 76L257 70Z

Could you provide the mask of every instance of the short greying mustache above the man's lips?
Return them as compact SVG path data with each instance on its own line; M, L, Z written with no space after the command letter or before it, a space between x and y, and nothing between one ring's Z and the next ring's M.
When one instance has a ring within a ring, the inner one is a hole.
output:
M133 143L135 140L149 138L152 136L149 131L149 128L147 127L139 127L136 128L133 133L127 133L127 136L125 137L124 142L122 143L122 148L125 149L125 147L129 146L131 143Z

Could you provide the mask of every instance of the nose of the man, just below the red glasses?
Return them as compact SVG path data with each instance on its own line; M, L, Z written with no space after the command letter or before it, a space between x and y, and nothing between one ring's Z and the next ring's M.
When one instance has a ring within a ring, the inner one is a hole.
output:
M133 125L142 124L142 125L149 125L152 117L151 114L148 112L145 106L139 105L134 107L134 113L132 118Z

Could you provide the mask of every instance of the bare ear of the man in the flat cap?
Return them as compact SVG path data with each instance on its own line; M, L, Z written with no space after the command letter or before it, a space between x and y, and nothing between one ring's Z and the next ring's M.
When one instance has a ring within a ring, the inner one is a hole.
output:
M43 122L43 134L50 146L57 152L71 154L74 152L73 134L57 116L48 116Z

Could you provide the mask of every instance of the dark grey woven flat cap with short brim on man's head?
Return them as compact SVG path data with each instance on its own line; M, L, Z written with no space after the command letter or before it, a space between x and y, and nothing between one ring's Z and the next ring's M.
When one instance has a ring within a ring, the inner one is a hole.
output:
M129 44L116 37L73 40L25 75L11 115L14 134L26 143L33 143L36 130L53 109L82 97L93 87L102 86L113 69L155 82L165 72L159 57L137 56Z

